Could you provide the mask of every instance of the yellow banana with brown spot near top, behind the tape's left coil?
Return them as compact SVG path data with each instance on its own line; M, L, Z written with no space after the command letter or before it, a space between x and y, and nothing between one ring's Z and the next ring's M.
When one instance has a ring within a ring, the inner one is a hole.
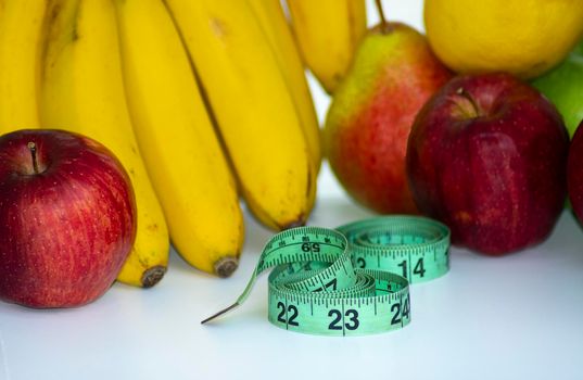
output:
M286 80L250 4L165 1L251 212L277 230L304 224L313 206L315 169Z

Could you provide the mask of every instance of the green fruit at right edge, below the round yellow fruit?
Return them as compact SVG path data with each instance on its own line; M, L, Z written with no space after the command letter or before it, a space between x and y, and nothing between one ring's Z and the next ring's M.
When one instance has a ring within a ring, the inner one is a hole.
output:
M583 40L556 68L532 83L559 110L569 136L583 121Z

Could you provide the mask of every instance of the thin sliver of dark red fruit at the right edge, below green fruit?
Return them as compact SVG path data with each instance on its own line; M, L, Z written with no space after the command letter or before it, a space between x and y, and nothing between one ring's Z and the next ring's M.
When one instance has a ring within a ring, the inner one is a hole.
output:
M571 208L583 224L583 121L573 135L567 161L567 190Z

